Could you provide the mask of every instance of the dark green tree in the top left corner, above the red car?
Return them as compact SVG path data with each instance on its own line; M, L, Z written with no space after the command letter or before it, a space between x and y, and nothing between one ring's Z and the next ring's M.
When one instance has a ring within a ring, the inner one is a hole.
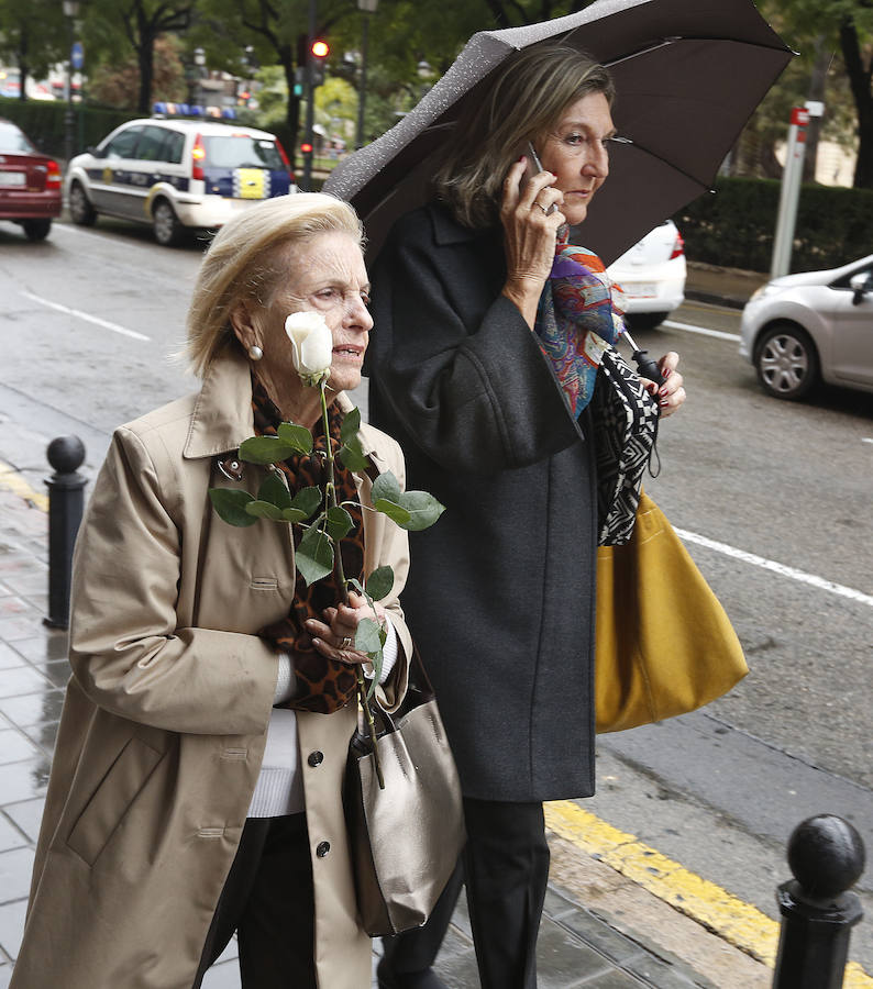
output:
M49 66L64 60L68 43L56 0L0 0L0 62L18 67L22 100L27 98L27 79L44 77Z

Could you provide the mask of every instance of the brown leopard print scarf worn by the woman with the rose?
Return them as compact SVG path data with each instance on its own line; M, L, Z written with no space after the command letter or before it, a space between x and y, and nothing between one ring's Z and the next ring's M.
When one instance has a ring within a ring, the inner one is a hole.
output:
M252 409L255 433L258 436L275 436L276 429L281 422L281 414L254 375L252 376ZM342 421L343 413L334 402L328 410L330 443L334 454L341 445L340 426ZM311 454L289 457L277 464L288 480L291 497L306 487L318 486L323 490L328 480L327 440L322 420L319 420L312 430L312 440ZM354 502L354 504L346 503L344 505L352 516L354 526L340 544L343 570L346 578L356 577L363 581L364 520L354 475L343 467L339 459L334 459L333 476L338 502ZM295 527L295 546L299 543L302 531ZM342 599L342 588L335 569L330 577L317 580L309 587L298 574L294 602L287 618L274 622L258 633L277 649L288 653L294 659L298 690L291 700L280 707L331 714L344 708L355 697L357 678L354 666L322 656L313 647L312 637L303 624L307 619L312 618L323 621L324 609L336 607Z

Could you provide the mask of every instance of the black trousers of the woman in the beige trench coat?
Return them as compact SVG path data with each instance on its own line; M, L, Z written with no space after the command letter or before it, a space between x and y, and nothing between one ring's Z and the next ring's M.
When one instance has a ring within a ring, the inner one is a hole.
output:
M314 909L306 814L250 818L192 989L234 931L243 989L316 989Z

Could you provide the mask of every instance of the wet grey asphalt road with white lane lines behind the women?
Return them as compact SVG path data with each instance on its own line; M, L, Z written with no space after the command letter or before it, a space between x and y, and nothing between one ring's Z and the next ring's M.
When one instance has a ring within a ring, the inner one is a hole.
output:
M195 388L167 355L200 253L103 221L43 244L0 226L0 458L38 486L45 438L76 432L93 470L115 424ZM738 332L736 311L687 303L638 342L678 351L689 393L647 489L687 534L751 673L705 712L601 737L584 805L776 916L805 816L852 820L873 848L873 396L766 398ZM861 888L870 916L873 881ZM869 927L852 954L873 971Z

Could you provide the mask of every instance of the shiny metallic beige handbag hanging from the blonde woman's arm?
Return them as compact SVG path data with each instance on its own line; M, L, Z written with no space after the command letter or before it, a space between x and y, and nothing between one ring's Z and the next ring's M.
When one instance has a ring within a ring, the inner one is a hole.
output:
M400 711L386 714L379 788L368 736L349 747L343 802L361 924L371 936L427 921L466 842L461 784L418 651Z

